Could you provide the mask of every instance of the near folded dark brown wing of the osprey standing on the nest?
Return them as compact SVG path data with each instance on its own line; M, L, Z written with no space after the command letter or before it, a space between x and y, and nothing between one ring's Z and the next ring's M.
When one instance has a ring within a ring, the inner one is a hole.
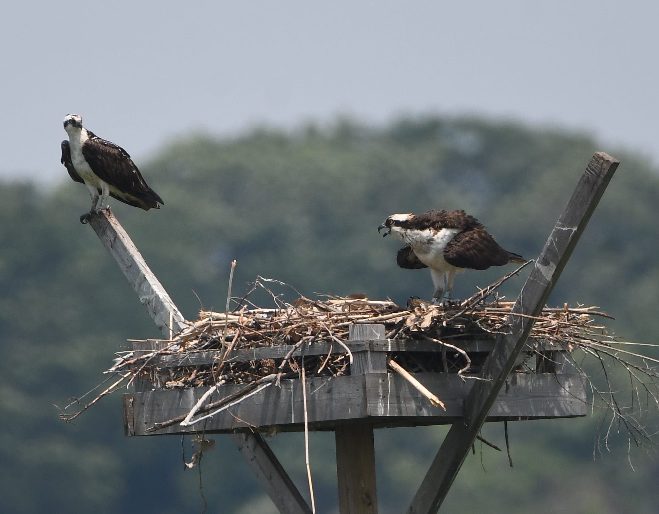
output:
M490 266L508 264L511 254L501 248L482 225L478 225L455 235L444 248L444 259L457 268L487 270Z

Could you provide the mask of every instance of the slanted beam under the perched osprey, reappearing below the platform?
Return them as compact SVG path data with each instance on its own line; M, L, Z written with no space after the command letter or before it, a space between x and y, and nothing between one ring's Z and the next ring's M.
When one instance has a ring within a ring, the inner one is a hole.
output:
M146 307L165 339L169 339L171 333L179 333L185 328L183 314L153 271L146 265L144 258L117 218L109 210L103 210L92 215L89 224L123 271L133 291L137 293L140 302ZM281 513L311 512L263 438L255 434L235 434L232 435L232 439Z

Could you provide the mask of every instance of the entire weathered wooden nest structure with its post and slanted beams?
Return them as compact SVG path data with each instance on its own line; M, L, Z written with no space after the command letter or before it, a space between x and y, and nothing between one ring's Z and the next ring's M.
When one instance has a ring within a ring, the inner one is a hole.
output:
M478 375L484 380L462 382L457 378L460 382L455 383L455 376L447 374L416 375L416 378L431 390L436 389L434 393L440 397L446 395L442 398L447 403L446 413L427 405L428 400L420 399L407 383L403 384L400 378L386 373L387 351L391 353L393 350L384 346L377 347L384 343L380 340L380 334L378 337L353 337L351 334L350 339L354 340L352 342L359 343L362 339L364 347L355 352L350 376L330 380L308 379L305 392L311 398L307 410L312 414L312 425L323 430L330 429L331 424L335 424L341 514L378 512L374 426L451 423L442 446L406 511L407 514L436 514L483 422L586 414L584 378L571 372L565 355L554 349L536 347L538 361L535 372L520 374L513 370L521 353L525 351L535 316L541 312L554 289L618 164L616 159L604 152L596 152L590 159L585 173L535 260L534 268L511 309L508 318L509 330L500 333L496 344L490 347L491 351ZM92 216L90 226L129 280L163 336L171 339L173 333L184 329L181 312L148 269L117 219L109 211L103 210ZM389 342L384 344L389 345ZM197 357L209 356L195 356ZM177 365L177 362L165 361L166 359L159 362L158 366ZM187 412L185 409L190 408L188 405L192 405L194 398L200 397L204 392L204 389L160 389L158 386L162 381L158 374L157 370L152 372L154 380L148 380L146 376L138 378L134 382L136 392L125 395L124 421L129 435L145 434L144 431L150 424L170 418L179 411ZM323 380L325 382L322 382ZM258 430L249 431L245 428L245 422L251 424L253 419L255 426L262 429L269 426L299 429L302 416L301 384L292 380L285 382L281 389L273 387L270 386L258 395L250 397L251 403L245 403L243 407L235 405L239 409L245 409L243 415L247 419L241 418L241 421L231 416L232 420L227 420L225 414L217 413L215 418L210 418L210 422L216 423L213 429L215 432L239 432L232 433L229 437L279 512L311 514L312 509L306 504L268 447L268 443ZM217 394L225 395L228 391L229 389L218 391ZM555 391L554 395L551 391ZM260 414L256 413L259 405L262 407ZM393 414L392 406L395 406ZM280 419L283 420L281 424ZM176 426L172 424L171 428L163 428L159 433L180 434L181 427L175 428Z

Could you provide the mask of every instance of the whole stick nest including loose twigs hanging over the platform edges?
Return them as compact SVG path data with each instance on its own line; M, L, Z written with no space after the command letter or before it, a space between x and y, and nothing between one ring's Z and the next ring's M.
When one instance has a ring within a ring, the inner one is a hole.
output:
M63 411L60 417L71 422L102 397L132 384L138 376L148 376L149 380L157 380L159 387L169 388L244 384L240 391L229 397L204 407L195 406L188 417L195 411L202 413L225 409L227 405L233 405L268 385L278 383L279 379L297 378L302 369L308 377L339 376L349 369L350 355L345 345L349 339L349 327L360 323L384 324L389 339L424 339L438 345L436 353L426 351L416 356L413 352L400 352L397 355L391 353L388 361L388 370L391 372L457 372L463 377L473 377L473 373L478 373L478 362L471 361L469 354L461 349L461 342L469 339L496 339L498 333L506 331L512 302L499 299L494 291L524 266L478 291L473 297L447 306L435 306L416 299L411 299L407 306L399 306L390 300L368 300L363 295L347 298L326 295L324 300L310 300L300 295L297 301L288 304L282 302L265 284L290 286L258 277L252 291L243 299L234 299L239 306L247 302L252 308L237 308L228 313L202 311L198 320L188 322L188 328L176 337L159 341L159 349L140 357L132 351L120 353L115 364L105 372L109 378L82 397L74 398L65 407L65 411L74 406L76 410L72 413ZM247 300L258 288L271 295L275 308L257 308ZM492 298L494 300L486 301ZM586 377L591 392L590 405L602 413L598 438L600 449L608 448L610 436L621 428L629 436L630 447L631 442L639 445L653 442L654 432L650 426L654 422L648 421L648 416L653 406L659 410L659 358L650 356L656 345L619 341L609 335L604 326L594 322L594 318L600 316L610 318L596 307L569 308L567 304L563 308L545 307L534 318L529 340L536 346L530 351L527 349L527 355L530 357L534 352L540 353L548 345L551 350L567 352L569 362ZM304 357L304 360L292 357L293 350L319 341L338 343L345 347L346 352ZM277 360L232 361L232 355L241 349L277 345L291 345L291 350L284 358ZM571 354L573 350L578 351ZM158 366L159 357L186 357L198 352L210 352L217 358L206 366L168 369ZM480 355L484 358L486 354ZM541 355L541 362L546 361L545 353ZM475 357L473 353L471 356ZM533 371L532 361L527 370ZM614 376L614 370L623 372L631 386L625 389L614 385L612 380L618 382L620 378ZM412 380L409 381L412 383ZM111 384L107 385L108 382ZM430 391L422 391L418 385L415 387L433 405L438 403L441 406L441 400ZM82 402L82 399L98 389L102 390L92 401ZM209 389L209 392L213 389ZM237 399L233 398L235 395ZM206 414L190 423L212 415ZM183 422L183 417L160 425ZM149 430L158 428L161 427L154 426Z

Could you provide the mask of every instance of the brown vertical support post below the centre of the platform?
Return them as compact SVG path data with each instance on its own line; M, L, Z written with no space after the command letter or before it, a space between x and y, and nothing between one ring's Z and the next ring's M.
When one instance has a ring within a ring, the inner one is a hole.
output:
M373 426L337 426L335 441L339 514L378 514Z

